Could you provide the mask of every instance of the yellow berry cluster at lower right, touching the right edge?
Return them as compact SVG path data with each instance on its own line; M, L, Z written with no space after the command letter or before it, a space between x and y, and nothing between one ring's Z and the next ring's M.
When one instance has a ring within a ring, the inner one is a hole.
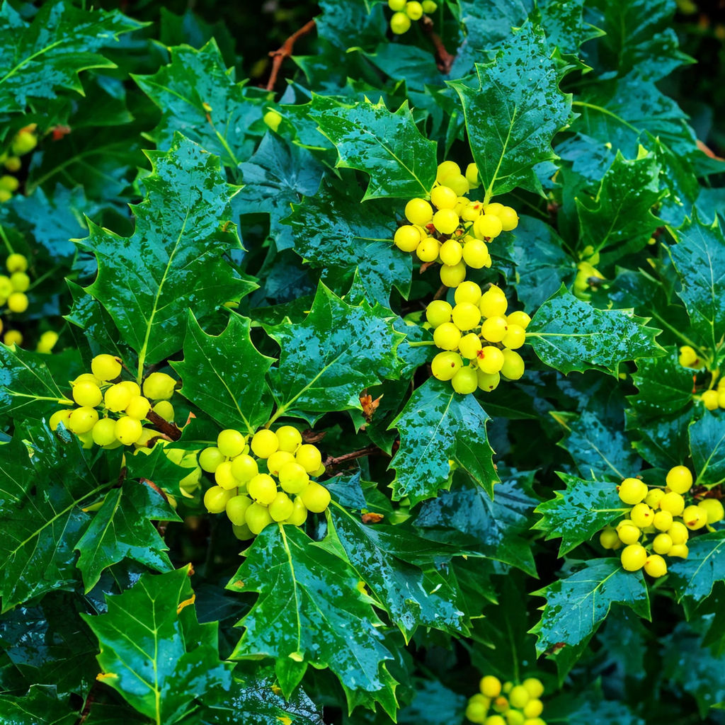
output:
M616 528L606 526L599 537L605 549L621 552L626 571L645 571L655 578L667 573L663 556L687 559L690 531L698 531L721 521L723 505L716 498L703 498L695 504L685 496L692 489L692 473L684 465L667 472L664 486L647 486L639 479L624 479L618 486L619 498L631 505L629 517ZM651 537L651 541L649 540Z

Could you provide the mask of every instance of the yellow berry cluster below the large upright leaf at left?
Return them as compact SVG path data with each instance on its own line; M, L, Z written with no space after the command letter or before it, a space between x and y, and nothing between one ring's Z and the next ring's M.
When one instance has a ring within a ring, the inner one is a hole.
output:
M118 381L122 369L119 358L96 355L91 361L91 372L70 382L72 401L58 401L61 405L75 402L78 407L57 410L50 417L50 427L55 430L63 423L80 438L85 448L94 444L109 449L133 444L148 447L161 434L150 426L144 427L144 421L153 411L173 423L174 408L170 399L176 381L166 373L151 373L144 380L141 394L138 383Z

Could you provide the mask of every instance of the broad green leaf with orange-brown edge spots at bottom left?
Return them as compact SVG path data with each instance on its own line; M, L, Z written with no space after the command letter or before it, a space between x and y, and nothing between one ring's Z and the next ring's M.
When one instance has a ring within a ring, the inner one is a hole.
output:
M99 639L99 680L157 723L173 725L205 692L229 689L219 659L218 623L196 621L189 567L144 574L106 597L107 613L83 616Z

